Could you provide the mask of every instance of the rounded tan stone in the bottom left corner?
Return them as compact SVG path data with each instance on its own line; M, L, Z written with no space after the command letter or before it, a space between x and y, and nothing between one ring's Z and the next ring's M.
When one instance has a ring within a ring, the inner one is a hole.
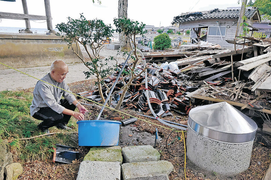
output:
M6 180L15 180L23 172L23 166L20 163L12 163L4 168Z

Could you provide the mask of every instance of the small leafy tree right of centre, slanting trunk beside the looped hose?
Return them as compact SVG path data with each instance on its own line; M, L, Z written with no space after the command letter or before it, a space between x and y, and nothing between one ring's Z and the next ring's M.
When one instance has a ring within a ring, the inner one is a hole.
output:
M138 63L138 60L140 60L140 58L138 57L138 54L136 52L136 45L137 45L136 44L136 35L143 36L143 34L146 33L147 31L144 31L145 24L143 24L142 22L139 23L138 21L132 21L127 18L124 18L124 19L116 19L115 18L114 25L116 26L116 32L125 34L130 49L135 49L133 52L133 56L131 56L133 65L130 66L128 63L130 71L127 76L129 76L129 81L127 83L124 82L124 86L122 87L122 89L123 89L122 95L120 96L120 100L119 100L117 106L115 107L115 109L118 110L122 104L125 93L126 93L127 89L129 88L129 86L130 85L134 85L134 86L141 85L141 84L134 84L133 80L136 79L138 76L140 76L147 69L147 67L145 67L145 69L143 69L143 71L141 71L138 74L135 74L135 72L134 72L136 69L136 64Z

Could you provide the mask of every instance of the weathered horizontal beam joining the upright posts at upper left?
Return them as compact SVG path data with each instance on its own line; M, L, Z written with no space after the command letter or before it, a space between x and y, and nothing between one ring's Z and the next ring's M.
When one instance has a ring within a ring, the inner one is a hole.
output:
M20 20L46 20L46 16L32 15L32 14L18 14L10 12L0 12L0 18L2 19L20 19Z

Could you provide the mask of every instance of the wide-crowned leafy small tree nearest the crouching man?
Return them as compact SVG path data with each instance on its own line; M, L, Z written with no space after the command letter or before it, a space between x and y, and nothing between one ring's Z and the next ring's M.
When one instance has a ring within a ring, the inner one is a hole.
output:
M84 72L86 75L86 79L90 78L92 75L96 76L96 84L99 89L100 96L102 98L102 102L105 102L104 95L102 92L102 86L105 85L103 83L104 78L106 78L114 67L108 66L109 61L116 60L115 57L110 56L106 59L100 58L100 50L104 47L107 40L110 40L110 37L113 33L113 28L111 25L106 25L100 19L94 20L86 20L83 16L83 13L80 14L79 19L72 19L68 17L67 23L60 23L56 25L57 29L61 32L57 33L57 36L62 38L68 48L71 48L73 52L78 56L84 65L89 69ZM73 45L73 44L76 44ZM78 43L83 45L86 50L90 61L86 62L84 57L81 57L79 54ZM89 52L91 49L94 57L91 56ZM105 85L106 86L106 85ZM110 88L106 86L107 91L109 92ZM111 101L109 101L109 104Z

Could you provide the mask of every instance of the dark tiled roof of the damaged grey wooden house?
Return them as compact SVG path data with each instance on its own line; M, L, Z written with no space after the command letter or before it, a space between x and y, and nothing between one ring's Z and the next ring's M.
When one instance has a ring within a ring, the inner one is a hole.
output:
M257 8L247 8L245 10L245 16L250 19L255 11L257 11ZM172 24L200 19L238 19L239 14L240 9L219 10L218 8L209 11L182 13L174 17Z

